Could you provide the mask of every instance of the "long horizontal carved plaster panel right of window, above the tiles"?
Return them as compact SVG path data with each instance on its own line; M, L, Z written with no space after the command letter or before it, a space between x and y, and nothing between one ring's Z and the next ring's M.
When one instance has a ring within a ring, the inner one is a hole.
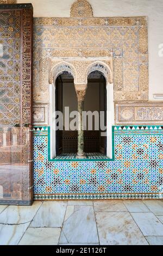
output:
M116 103L116 124L162 124L162 103Z

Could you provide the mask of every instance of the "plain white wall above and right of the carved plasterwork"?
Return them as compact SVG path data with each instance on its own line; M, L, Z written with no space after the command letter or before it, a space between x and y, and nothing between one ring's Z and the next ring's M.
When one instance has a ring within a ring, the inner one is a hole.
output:
M32 2L35 17L69 17L74 0L18 0ZM89 0L95 17L148 16L149 45L149 100L153 94L163 94L163 57L159 57L159 44L163 44L163 0ZM155 100L156 101L156 100Z

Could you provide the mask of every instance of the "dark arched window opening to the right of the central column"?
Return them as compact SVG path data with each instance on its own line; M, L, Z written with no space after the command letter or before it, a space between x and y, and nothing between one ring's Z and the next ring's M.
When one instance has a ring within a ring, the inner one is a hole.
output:
M84 111L84 151L106 155L106 80L101 71L88 76Z

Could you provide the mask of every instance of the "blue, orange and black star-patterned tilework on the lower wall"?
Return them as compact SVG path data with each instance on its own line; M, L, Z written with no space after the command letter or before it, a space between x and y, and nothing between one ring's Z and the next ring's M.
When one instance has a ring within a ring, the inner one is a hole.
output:
M115 160L49 161L48 127L34 129L34 198L163 198L163 125L115 126Z

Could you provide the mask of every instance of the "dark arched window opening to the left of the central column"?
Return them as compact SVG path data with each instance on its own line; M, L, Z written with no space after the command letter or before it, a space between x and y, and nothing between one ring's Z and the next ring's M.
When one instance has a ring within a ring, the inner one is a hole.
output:
M62 72L55 81L55 110L62 113L62 127L56 129L56 155L77 153L78 132L70 129L73 118L70 113L78 110L74 78L67 71ZM56 124L57 127L59 124ZM61 124L60 124L61 126Z

